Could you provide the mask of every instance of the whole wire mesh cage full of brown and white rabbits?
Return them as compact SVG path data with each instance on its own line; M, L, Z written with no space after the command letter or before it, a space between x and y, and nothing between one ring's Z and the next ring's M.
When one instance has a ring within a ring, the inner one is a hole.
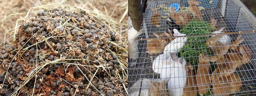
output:
M129 95L255 95L252 18L239 0L148 0Z

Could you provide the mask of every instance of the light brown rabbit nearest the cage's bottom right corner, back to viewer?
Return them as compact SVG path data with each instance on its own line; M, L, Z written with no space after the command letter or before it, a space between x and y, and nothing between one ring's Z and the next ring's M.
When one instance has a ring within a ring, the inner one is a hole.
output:
M225 67L223 77L225 82L228 85L228 89L230 92L238 92L242 86L242 81L240 80L240 77L237 76L236 73L234 73L234 69L230 69L229 67Z

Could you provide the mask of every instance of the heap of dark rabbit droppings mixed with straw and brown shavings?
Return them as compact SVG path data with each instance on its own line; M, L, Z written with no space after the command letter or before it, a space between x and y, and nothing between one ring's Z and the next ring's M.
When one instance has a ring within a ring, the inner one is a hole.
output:
M0 49L0 95L125 96L127 50L109 23L79 8L29 16Z

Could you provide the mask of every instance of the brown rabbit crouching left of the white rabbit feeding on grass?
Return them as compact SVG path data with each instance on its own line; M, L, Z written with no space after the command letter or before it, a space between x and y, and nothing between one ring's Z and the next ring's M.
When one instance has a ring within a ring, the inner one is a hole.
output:
M164 32L161 35L158 35L157 33L153 33L156 37L170 37L172 35L169 35L168 33ZM162 38L162 39L153 39L148 41L147 48L148 52L150 54L158 54L162 53L164 50L164 47L168 44L169 38Z

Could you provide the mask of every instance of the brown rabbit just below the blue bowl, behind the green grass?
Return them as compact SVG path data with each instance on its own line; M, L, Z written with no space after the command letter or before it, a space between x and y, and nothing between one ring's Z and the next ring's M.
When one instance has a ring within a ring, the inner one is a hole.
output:
M171 13L169 17L175 20L175 23L179 26L186 26L188 25L189 21L191 21L193 18L189 13L183 13L183 12L174 12L175 8L173 7L171 9Z

